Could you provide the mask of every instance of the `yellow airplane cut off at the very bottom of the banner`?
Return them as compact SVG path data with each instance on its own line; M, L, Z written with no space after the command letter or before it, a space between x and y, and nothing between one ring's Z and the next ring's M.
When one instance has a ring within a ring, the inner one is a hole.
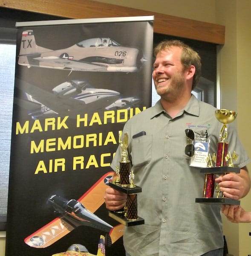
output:
M97 254L89 253L87 248L82 244L72 244L66 252L56 253L52 256L105 256L105 238L104 236L100 236L98 242L98 252Z

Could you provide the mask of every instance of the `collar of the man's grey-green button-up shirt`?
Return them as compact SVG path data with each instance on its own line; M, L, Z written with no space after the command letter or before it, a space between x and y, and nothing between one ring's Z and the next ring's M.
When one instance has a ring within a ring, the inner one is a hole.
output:
M166 111L164 111L164 109L160 103L160 100L157 101L156 104L151 109L152 109L152 114L150 116L151 119L155 116L159 116L161 113L166 113ZM179 115L182 115L184 112L187 112L193 116L199 116L199 100L193 94L192 94L188 104L180 112Z

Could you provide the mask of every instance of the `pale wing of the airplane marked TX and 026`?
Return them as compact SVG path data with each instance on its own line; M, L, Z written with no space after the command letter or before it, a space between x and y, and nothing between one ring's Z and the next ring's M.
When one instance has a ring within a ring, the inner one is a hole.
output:
M75 61L68 58L60 58L57 56L45 56L34 58L34 60L40 61L40 66L50 65L52 68L63 68L66 70L75 71L107 71L107 65L89 63L85 61ZM46 64L48 63L48 65Z

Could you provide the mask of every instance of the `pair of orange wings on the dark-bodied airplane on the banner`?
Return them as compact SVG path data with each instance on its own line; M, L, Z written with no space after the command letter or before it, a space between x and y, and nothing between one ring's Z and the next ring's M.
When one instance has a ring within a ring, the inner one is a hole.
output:
M113 174L114 172L107 172L79 199L79 202L85 204L86 209L95 212L104 203L104 191L107 188L107 183L112 180ZM69 219L65 217L55 218L32 235L26 237L24 239L25 243L31 247L45 248L61 239L75 227L78 227L78 220L74 222L74 219L71 219L69 222Z

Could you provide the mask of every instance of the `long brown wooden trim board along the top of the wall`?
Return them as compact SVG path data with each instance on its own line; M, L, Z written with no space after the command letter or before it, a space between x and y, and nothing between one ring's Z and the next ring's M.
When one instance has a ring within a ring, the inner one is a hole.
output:
M214 44L225 42L225 26L222 25L94 0L0 0L0 7L74 19L154 15L153 31L156 33Z

